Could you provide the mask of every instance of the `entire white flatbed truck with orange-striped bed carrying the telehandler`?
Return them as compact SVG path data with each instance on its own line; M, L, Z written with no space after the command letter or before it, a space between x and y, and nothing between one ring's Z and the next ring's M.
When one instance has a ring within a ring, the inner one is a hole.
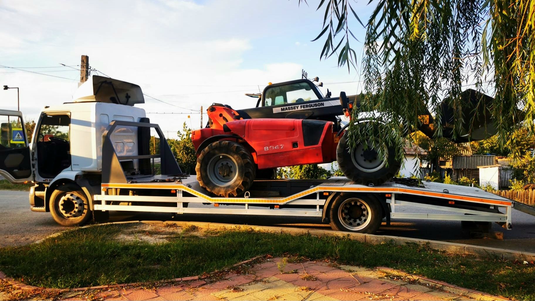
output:
M137 211L317 217L335 230L360 233L374 233L384 218L496 222L511 229L511 200L411 179L375 187L345 177L258 180L240 197L215 197L182 173L162 130L134 107L139 103L139 86L93 76L73 102L44 107L30 143L22 113L0 110L0 175L32 182L30 209L50 212L63 226L105 221L110 211ZM150 128L159 136L159 155L150 155ZM156 158L162 175L153 174ZM406 205L430 213L400 212Z

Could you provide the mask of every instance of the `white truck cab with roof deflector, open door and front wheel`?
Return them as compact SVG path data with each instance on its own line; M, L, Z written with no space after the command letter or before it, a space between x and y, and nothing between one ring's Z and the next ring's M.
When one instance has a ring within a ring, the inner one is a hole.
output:
M0 175L11 183L34 183L32 211L52 212L62 225L90 218L92 195L100 190L103 134L113 120L148 122L141 88L94 75L75 92L74 101L45 106L31 139L22 113L0 110ZM140 132L140 133L138 133ZM150 132L120 126L111 134L120 156L149 155ZM129 175L147 169L142 159L120 165Z

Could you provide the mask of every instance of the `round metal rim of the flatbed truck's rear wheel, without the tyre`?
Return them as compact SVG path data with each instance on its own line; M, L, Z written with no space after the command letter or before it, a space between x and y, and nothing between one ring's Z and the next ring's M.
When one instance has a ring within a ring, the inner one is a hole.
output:
M338 220L343 227L351 231L368 227L371 221L370 214L370 206L360 198L346 199L338 207Z

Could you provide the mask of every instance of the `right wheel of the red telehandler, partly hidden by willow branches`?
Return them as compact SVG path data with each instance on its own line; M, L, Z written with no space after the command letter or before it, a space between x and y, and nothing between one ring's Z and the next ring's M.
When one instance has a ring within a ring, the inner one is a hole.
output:
M379 156L377 150L368 143L360 143L350 149L348 145L348 132L340 138L337 146L337 162L342 173L349 180L357 184L380 185L392 179L401 167L401 161L395 158L395 148L384 145L386 159Z

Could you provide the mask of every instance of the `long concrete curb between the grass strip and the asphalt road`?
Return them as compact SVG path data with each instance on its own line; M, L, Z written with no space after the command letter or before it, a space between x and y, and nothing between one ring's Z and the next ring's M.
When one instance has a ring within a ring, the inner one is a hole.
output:
M143 223L155 223L144 222ZM349 237L352 240L360 241L369 244L385 244L395 243L397 245L404 245L407 243L416 243L418 245L429 245L430 248L439 251L445 251L453 254L472 254L480 257L500 258L507 260L526 260L535 261L535 253L514 251L507 249L489 248L486 246L477 246L460 243L450 243L441 241L421 240L418 238L399 237L399 236L387 236L387 235L373 235L362 233L351 233L345 231L333 231L333 230L320 230L320 229L304 229L304 228L284 228L284 227L269 227L269 226L248 226L248 225L235 225L231 223L217 223L217 222L199 222L199 221L164 221L157 223L175 223L178 226L197 226L199 228L208 229L253 229L256 231L269 231L273 233L281 234L293 234L293 235L314 235L314 236L339 236Z

